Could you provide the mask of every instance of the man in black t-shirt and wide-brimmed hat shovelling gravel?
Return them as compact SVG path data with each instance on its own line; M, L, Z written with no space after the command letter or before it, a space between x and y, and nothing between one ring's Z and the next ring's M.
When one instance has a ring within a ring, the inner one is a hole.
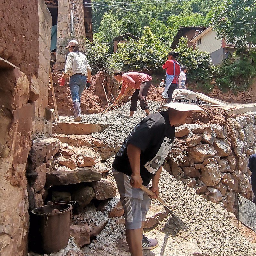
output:
M148 239L142 231L151 198L159 195L160 173L172 148L175 125L184 124L193 111L206 113L197 105L195 93L189 90L175 90L172 101L160 108L167 108L167 111L151 114L136 125L112 164L124 208L126 241L132 256L142 256L142 249L158 246L157 240ZM150 198L140 187L142 184L148 186L151 180L150 190L155 196Z

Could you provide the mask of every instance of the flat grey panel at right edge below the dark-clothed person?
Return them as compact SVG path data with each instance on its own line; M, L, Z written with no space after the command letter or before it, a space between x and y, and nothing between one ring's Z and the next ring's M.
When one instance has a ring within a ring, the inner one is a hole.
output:
M238 196L238 220L248 228L256 232L256 204L252 203L243 196Z

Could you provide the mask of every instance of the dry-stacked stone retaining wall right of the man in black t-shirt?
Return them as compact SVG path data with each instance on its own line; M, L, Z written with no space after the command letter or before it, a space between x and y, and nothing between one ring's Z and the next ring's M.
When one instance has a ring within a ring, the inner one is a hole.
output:
M255 112L248 112L228 118L223 125L179 126L176 137L186 147L185 156L181 163L175 159L168 162L171 174L203 198L235 213L237 193L247 199L253 196L248 159L256 152L255 118Z

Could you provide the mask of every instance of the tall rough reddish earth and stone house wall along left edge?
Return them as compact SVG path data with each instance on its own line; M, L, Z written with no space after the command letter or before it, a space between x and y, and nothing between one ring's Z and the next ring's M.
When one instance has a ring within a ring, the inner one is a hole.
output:
M45 20L48 24L51 17L43 0L32 0L29 5L25 0L4 1L0 13L8 24L0 28L1 57L16 65L0 65L0 256L25 256L29 224L26 164L34 116L44 120L48 104L50 54L46 43L51 32Z

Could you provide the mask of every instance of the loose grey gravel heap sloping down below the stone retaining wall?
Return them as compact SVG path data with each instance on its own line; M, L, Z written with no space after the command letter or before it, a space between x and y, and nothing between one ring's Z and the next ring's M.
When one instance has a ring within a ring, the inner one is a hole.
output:
M180 229L194 238L198 247L209 255L256 255L256 244L241 235L235 217L219 204L205 200L193 188L163 170L159 182L160 196L177 209L168 228L175 236Z

